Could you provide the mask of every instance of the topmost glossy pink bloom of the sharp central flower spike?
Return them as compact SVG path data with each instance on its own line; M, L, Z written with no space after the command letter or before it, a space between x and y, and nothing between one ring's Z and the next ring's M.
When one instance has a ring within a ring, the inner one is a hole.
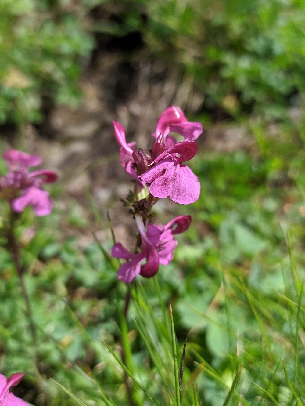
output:
M166 138L170 132L182 135L185 141L194 141L202 134L202 125L188 121L179 107L171 106L161 114L153 136L163 134Z

